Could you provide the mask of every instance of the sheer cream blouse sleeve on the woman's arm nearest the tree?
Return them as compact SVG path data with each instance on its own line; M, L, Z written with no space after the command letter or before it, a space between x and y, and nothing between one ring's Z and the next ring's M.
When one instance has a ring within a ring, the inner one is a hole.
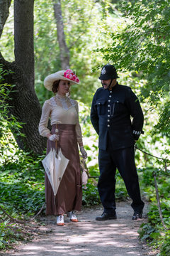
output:
M47 137L47 134L50 134L50 130L47 129L50 112L51 112L50 105L46 101L42 107L42 114L41 114L40 123L38 127L40 135L43 137Z

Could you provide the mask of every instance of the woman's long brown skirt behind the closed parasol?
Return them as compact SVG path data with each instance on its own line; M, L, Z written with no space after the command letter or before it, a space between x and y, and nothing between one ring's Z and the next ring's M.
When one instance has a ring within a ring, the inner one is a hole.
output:
M79 161L79 149L77 144L76 126L74 124L53 124L51 134L56 134L58 129L59 141L57 149L69 159L62 181L54 196L50 181L45 174L45 201L47 215L60 215L71 210L81 210L82 183ZM56 143L47 140L47 154Z

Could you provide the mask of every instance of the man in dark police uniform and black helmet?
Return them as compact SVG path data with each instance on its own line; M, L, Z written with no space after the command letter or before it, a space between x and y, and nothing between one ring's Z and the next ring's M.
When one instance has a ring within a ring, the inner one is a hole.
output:
M91 105L91 122L99 135L98 164L100 177L98 193L103 204L103 213L96 220L116 219L115 171L118 169L132 198L132 220L142 218L144 202L135 166L134 144L143 127L140 102L130 87L119 85L113 65L105 65ZM131 118L132 117L132 121Z

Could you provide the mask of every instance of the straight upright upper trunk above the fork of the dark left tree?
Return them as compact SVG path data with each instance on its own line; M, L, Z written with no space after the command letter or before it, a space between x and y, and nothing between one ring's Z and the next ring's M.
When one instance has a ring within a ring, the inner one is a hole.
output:
M15 62L34 91L33 6L34 0L14 1Z

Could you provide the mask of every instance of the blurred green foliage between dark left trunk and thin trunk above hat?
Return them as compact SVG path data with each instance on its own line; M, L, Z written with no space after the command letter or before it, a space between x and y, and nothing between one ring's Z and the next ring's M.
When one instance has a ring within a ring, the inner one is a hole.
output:
M35 90L40 103L52 97L43 80L50 73L61 69L60 48L52 1L35 1L34 11Z

